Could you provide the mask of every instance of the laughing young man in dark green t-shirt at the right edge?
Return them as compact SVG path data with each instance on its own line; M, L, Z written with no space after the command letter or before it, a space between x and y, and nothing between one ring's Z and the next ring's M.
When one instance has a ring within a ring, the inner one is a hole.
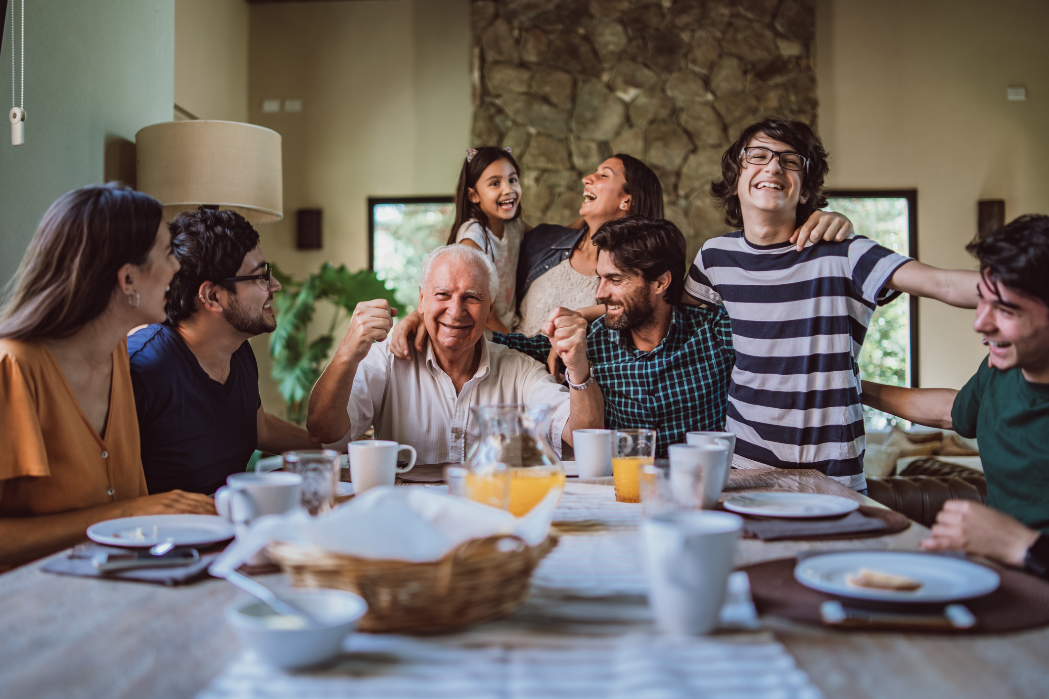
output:
M1021 216L967 249L980 259L973 329L984 336L987 361L961 391L863 381L863 402L980 442L988 507L948 502L926 549L962 549L1046 575L1049 216Z

